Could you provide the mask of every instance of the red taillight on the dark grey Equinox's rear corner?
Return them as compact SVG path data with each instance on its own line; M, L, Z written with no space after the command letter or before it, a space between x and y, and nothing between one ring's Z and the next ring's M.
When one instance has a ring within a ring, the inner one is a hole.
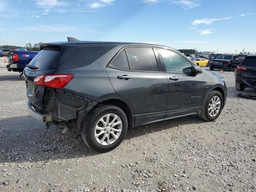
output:
M39 86L62 89L74 78L72 74L47 74L34 78L34 83Z

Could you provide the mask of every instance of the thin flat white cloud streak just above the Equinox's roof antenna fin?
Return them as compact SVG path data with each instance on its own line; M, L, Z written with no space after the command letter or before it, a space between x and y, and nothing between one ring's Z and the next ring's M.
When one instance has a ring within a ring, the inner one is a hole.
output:
M20 30L41 31L41 32L67 32L78 31L77 28L66 25L36 25L20 28Z

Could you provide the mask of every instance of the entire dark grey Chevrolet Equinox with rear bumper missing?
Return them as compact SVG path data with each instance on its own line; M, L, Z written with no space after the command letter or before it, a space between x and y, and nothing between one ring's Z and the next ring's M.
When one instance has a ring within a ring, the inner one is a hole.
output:
M23 77L34 118L75 128L100 152L116 148L128 127L192 114L216 120L227 96L221 76L154 44L42 44Z

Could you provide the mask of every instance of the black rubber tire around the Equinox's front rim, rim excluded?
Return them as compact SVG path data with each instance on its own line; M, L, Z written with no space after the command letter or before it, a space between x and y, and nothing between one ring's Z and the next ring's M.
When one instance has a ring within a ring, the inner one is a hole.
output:
M210 100L214 97L214 96L218 96L220 98L220 110L218 112L218 114L214 117L210 116L209 112L208 112L208 106L209 106L209 103L210 103ZM222 94L216 90L210 92L209 96L207 97L206 99L206 102L204 104L204 107L202 108L202 110L199 112L199 117L200 119L202 120L205 120L205 121L214 121L218 118L218 116L220 116L220 113L222 111L222 108L223 108L223 97L222 97Z

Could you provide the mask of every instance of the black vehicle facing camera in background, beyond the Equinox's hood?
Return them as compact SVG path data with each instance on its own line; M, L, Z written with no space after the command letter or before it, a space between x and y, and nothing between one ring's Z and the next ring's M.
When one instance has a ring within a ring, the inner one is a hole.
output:
M209 67L210 70L220 69L220 70L228 70L228 68L232 67L232 62L236 58L234 55L222 54L218 56L216 59L210 60Z

